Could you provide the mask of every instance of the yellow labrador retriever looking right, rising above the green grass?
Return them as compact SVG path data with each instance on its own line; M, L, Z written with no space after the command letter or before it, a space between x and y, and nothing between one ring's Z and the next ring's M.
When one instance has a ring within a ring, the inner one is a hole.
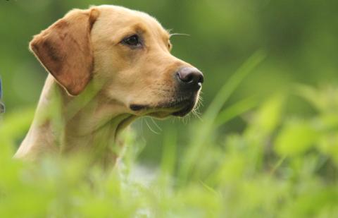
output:
M15 157L81 151L109 164L137 117L188 114L204 77L171 47L156 19L120 6L72 10L35 35L30 50L49 76Z

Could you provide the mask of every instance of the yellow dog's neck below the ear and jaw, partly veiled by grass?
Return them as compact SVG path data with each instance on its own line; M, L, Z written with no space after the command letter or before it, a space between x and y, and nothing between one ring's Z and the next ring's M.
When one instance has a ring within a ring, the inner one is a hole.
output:
M100 90L91 84L81 95L71 97L49 75L30 131L15 157L37 159L51 152L76 151L114 162L117 136L136 116L126 114L123 104L98 95Z

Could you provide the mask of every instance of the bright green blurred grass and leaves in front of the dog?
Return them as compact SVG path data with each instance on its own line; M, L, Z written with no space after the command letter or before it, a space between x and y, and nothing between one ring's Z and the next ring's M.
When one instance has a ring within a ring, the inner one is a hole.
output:
M175 128L163 133L162 162L149 184L130 174L143 146L132 131L124 136L124 164L109 173L81 157L28 164L11 157L34 110L6 114L0 217L337 217L338 87L294 85L223 109L263 59L253 54L187 126L183 154ZM290 99L313 114L290 112ZM236 116L244 117L244 131L223 133Z

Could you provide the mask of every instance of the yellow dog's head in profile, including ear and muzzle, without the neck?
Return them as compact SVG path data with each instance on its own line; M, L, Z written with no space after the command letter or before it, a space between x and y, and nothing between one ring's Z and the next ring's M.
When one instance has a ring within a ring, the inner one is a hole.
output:
M199 98L203 74L170 54L156 19L119 6L70 11L36 35L30 49L70 95L89 81L134 115L184 116Z

